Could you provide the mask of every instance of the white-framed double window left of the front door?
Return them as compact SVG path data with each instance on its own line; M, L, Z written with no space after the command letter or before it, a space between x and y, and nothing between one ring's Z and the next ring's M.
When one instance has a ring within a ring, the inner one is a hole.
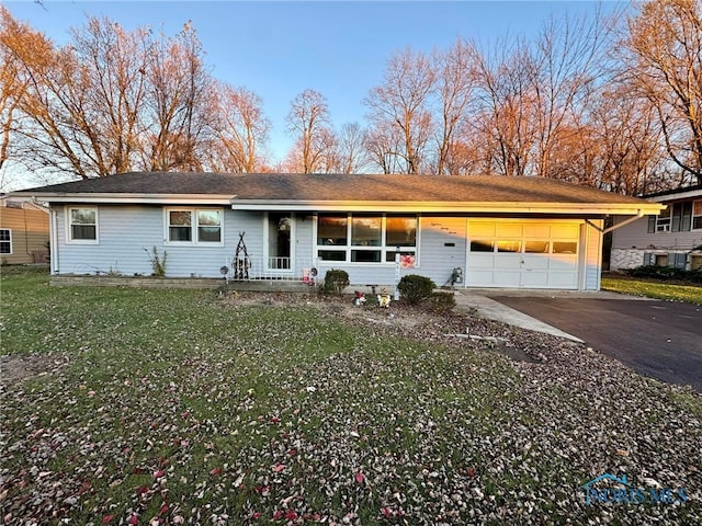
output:
M166 210L169 243L222 243L222 210Z

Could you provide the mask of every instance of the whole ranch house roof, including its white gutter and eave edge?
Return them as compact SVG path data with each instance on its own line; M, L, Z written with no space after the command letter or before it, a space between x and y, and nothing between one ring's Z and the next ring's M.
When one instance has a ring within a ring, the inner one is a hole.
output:
M16 193L48 203L223 204L247 210L658 214L661 205L541 178L131 172Z

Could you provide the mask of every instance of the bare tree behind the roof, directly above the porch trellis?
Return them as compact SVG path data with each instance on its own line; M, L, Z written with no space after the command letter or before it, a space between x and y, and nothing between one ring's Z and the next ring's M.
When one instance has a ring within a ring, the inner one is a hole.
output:
M246 88L216 83L211 145L215 171L253 173L263 169L261 157L271 128L263 115L261 99Z

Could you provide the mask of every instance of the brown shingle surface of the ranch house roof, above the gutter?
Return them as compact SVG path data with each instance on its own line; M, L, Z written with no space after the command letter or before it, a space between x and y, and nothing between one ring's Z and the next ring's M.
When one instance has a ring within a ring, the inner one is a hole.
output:
M236 201L635 204L642 201L541 178L499 175L225 174L133 172L23 191L32 195L219 195Z

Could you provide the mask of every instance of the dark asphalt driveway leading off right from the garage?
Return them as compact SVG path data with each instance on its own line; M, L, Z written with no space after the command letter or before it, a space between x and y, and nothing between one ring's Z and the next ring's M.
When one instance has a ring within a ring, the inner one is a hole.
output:
M634 299L490 298L663 381L702 392L702 307Z

